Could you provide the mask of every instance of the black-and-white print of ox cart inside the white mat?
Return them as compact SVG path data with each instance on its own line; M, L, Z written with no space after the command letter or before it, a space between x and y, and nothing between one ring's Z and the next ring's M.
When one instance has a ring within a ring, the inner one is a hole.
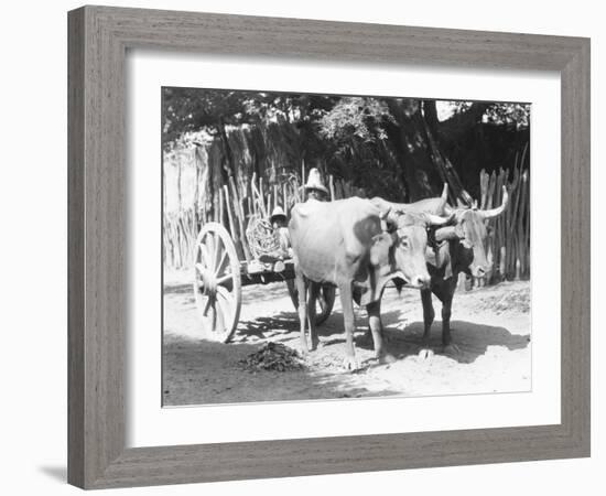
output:
M530 104L161 94L164 407L532 390Z

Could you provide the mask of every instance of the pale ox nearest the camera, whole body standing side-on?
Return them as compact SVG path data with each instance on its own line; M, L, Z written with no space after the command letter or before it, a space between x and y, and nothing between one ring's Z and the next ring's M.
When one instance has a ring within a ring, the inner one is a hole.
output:
M429 287L426 229L447 220L432 214L381 212L370 201L357 197L328 203L312 200L295 205L289 231L299 291L303 353L315 349L318 344L315 300L321 284L329 283L339 289L343 306L344 366L359 367L353 337L354 291L360 305L368 311L375 352L381 358L385 351L378 301L382 288L394 277L418 288ZM307 284L309 301L305 301ZM305 335L305 322L310 324L311 346Z

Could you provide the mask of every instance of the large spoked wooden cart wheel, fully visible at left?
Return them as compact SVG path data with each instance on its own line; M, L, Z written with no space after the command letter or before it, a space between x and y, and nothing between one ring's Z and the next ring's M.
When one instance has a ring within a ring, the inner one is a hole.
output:
M194 294L204 337L229 342L240 316L240 261L229 233L220 224L205 224L196 239Z

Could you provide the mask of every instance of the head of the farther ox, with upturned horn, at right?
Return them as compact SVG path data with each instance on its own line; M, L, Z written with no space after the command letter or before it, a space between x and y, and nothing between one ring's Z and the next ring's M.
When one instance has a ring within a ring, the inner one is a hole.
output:
M486 239L488 220L501 215L507 208L507 188L502 187L501 205L481 211L476 206L472 208L457 208L452 211L455 225L440 228L435 231L436 240L444 239L458 241L454 245L454 257L470 276L480 278L488 272L488 258L486 256ZM448 212L448 208L446 208Z

